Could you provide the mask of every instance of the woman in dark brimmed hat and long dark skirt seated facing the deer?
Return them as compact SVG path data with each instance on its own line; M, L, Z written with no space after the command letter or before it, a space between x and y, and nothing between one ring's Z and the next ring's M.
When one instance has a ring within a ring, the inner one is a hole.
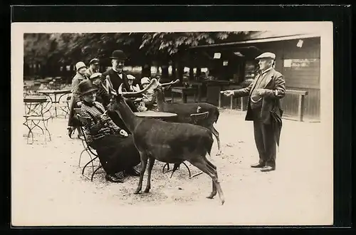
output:
M132 135L117 127L106 115L102 104L95 101L98 88L90 80L78 85L82 100L81 115L90 118L90 124L83 127L88 145L98 153L100 163L110 182L123 182L119 172L125 175L140 176L133 167L140 163L140 154L135 147Z

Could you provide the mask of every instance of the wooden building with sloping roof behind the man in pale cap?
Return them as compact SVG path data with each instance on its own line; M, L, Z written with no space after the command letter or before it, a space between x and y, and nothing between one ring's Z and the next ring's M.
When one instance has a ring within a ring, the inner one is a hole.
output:
M193 66L208 67L217 80L244 85L251 83L258 70L254 59L260 53L276 54L276 71L283 73L288 90L303 90L303 115L320 120L320 35L258 31L243 40L189 48ZM286 116L298 115L298 95L288 93L283 99Z

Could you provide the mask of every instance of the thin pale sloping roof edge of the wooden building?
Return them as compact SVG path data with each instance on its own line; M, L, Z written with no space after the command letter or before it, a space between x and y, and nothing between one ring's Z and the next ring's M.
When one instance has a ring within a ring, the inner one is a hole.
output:
M252 39L248 41L236 41L233 43L219 43L219 44L209 44L209 45L201 45L201 46L191 46L189 48L211 48L216 46L235 46L241 44L249 44L249 43L268 43L273 41L287 41L294 39L302 39L302 38L318 38L320 35L314 33L304 33L292 36L280 36L276 38L261 38L261 39Z

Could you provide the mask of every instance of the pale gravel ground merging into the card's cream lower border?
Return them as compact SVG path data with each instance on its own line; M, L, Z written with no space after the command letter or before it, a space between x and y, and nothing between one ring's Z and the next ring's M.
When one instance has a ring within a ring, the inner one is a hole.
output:
M149 194L135 195L138 177L123 184L106 182L103 171L93 182L81 174L88 155L78 160L83 146L69 139L67 120L49 121L51 142L35 135L26 145L26 127L12 157L12 224L36 225L295 225L333 223L333 155L324 144L322 123L283 121L277 169L251 169L258 160L252 122L245 113L221 110L216 129L223 155L214 142L216 164L226 202L206 199L211 179L206 174L189 179L187 169L162 174L155 163ZM188 164L189 165L189 164ZM192 174L199 172L190 167ZM91 168L85 172L90 175ZM144 178L143 189L147 178Z

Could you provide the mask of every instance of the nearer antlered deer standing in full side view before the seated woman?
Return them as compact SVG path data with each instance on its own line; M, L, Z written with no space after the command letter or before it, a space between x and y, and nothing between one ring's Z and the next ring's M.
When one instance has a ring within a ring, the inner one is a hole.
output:
M190 162L211 177L212 191L207 198L213 199L219 194L221 205L225 198L218 178L216 166L209 162L213 145L212 133L206 127L189 123L165 122L148 117L137 117L126 103L126 98L132 98L144 93L147 89L157 86L153 78L147 88L136 92L123 92L122 85L117 90L105 82L105 90L112 95L108 110L117 112L133 135L133 141L140 153L140 180L134 194L140 194L142 181L147 168L147 185L145 193L151 189L151 174L155 160L172 164ZM147 167L148 162L148 167Z

